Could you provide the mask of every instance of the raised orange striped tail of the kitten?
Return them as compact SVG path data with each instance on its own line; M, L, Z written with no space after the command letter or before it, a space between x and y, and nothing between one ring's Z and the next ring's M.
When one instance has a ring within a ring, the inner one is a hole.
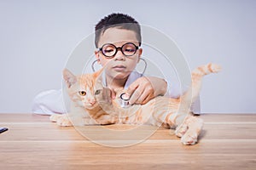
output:
M188 111L190 109L190 105L195 102L195 99L199 96L201 91L202 77L210 73L217 73L218 71L221 71L220 65L209 63L207 65L201 65L191 72L192 84L187 92L180 97L181 109Z

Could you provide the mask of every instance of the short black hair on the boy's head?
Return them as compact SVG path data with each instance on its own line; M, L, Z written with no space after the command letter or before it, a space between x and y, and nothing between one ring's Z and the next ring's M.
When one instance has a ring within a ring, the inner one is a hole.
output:
M139 46L142 42L141 27L137 20L127 14L108 14L95 26L95 45L98 48L99 39L108 28L118 27L120 29L135 31Z

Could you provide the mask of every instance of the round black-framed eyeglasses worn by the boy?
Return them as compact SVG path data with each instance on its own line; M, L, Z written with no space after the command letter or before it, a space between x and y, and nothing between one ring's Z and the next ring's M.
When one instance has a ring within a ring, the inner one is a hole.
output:
M138 46L136 46L132 42L127 42L124 45L122 45L122 47L117 48L112 43L106 43L102 46L102 48L99 48L99 51L102 51L102 54L105 55L105 57L113 58L113 56L117 54L119 49L125 56L131 56L136 54Z

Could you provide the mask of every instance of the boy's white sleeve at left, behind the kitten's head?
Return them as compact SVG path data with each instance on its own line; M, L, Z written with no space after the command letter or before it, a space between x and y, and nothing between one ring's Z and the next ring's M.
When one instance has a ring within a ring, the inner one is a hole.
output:
M47 90L38 94L32 101L32 112L43 115L66 113L62 89Z

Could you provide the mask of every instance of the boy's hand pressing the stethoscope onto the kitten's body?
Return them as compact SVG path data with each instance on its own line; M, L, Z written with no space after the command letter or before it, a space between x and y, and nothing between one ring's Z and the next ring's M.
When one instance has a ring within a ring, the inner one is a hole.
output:
M146 104L158 95L166 94L167 82L158 77L140 77L132 82L127 90L131 96L129 104Z

